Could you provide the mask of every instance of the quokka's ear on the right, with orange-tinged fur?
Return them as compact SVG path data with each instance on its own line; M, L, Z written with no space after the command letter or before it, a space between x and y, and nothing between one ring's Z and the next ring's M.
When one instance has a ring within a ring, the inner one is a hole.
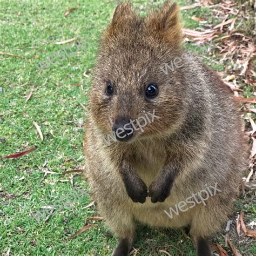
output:
M177 3L168 2L163 8L146 17L147 26L160 40L179 45L182 41L180 9Z

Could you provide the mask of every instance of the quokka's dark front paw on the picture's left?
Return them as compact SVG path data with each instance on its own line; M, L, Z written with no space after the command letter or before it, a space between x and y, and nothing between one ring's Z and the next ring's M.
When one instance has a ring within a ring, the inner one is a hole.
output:
M145 203L147 197L147 186L140 178L126 187L128 196L134 203Z

